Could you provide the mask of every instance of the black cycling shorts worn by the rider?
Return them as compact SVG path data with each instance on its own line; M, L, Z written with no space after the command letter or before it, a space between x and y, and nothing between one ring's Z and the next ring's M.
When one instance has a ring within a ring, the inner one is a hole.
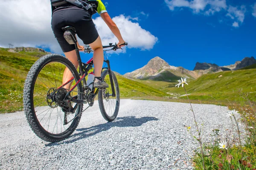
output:
M99 37L88 11L74 6L60 10L57 9L52 14L52 31L63 52L75 49L75 45L70 45L63 37L64 31L61 28L65 26L75 27L78 37L86 45L94 42Z

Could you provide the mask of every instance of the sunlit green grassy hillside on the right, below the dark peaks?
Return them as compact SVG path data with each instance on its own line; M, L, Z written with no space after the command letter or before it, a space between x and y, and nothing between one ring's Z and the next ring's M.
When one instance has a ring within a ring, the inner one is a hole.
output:
M248 92L250 99L256 101L256 69L205 74L186 85L187 93L190 94L189 98L199 100L224 101L228 99L241 102L243 100L239 96L238 89ZM185 94L183 88L177 87L170 88L169 93Z

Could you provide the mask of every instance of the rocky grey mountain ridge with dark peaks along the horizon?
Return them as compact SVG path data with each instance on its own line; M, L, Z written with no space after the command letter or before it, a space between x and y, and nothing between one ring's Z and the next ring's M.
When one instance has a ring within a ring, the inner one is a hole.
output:
M237 61L233 65L218 66L212 63L200 63L197 62L193 71L187 70L183 67L175 67L169 65L165 60L160 57L154 57L142 68L138 68L135 71L124 74L126 77L133 77L136 79L152 79L160 81L172 81L177 77L189 77L197 79L207 73L217 73L221 71L238 70L249 65L255 64L256 59L254 57L245 57L241 61Z

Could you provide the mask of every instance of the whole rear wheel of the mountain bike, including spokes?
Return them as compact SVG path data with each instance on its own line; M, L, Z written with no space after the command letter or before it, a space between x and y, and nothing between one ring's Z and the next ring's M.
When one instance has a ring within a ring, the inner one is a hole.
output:
M71 102L76 108L74 113L66 109L70 102L66 97L67 89L60 88L65 69L74 77L73 87L79 74L72 62L58 54L46 55L32 65L24 85L23 104L27 121L35 134L47 142L58 142L70 136L81 118L82 104ZM70 96L82 99L82 92L79 83Z

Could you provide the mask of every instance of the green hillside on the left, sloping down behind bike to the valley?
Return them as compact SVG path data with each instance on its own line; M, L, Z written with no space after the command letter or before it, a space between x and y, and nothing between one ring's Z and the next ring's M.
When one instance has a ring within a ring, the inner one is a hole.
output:
M0 113L23 108L22 93L26 75L33 63L46 53L20 51L8 52L0 48ZM166 94L141 82L116 75L121 97L165 96Z

